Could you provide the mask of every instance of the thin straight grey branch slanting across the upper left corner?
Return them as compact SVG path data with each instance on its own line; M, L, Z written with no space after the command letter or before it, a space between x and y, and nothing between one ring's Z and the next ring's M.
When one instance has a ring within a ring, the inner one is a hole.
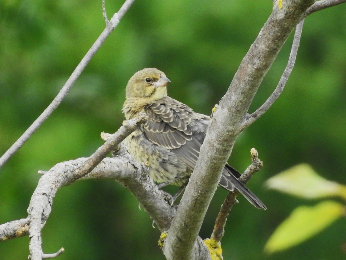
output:
M43 122L53 113L53 111L60 105L64 97L67 95L75 81L81 75L82 71L89 63L94 54L98 51L102 43L106 40L109 34L117 27L120 19L125 15L126 11L130 8L134 0L126 0L121 6L119 11L115 13L112 19L107 24L106 28L103 30L101 35L97 38L95 43L91 46L89 51L85 54L81 62L72 72L70 78L66 81L65 85L62 87L58 95L54 98L51 104L40 114L40 116L30 125L30 127L21 135L21 137L0 157L0 168L4 165L9 158L16 151L24 145L24 143L30 138L31 135L43 124Z

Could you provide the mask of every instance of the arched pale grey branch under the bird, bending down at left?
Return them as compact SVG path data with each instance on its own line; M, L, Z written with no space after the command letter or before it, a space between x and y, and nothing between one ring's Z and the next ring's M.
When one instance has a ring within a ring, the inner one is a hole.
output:
M57 190L75 181L75 170L85 164L87 159L79 158L58 163L40 178L28 208L32 259L41 259L43 255L40 231L52 211ZM146 167L138 164L128 153L114 158L104 158L83 179L117 180L134 194L162 232L169 228L175 209L165 200L165 192L158 189L149 178Z

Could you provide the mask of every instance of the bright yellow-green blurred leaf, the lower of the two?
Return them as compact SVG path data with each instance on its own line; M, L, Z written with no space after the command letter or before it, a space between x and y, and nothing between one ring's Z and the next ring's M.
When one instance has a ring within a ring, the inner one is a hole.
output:
M343 216L345 207L335 201L322 201L316 206L300 206L276 228L264 250L274 253L300 244Z

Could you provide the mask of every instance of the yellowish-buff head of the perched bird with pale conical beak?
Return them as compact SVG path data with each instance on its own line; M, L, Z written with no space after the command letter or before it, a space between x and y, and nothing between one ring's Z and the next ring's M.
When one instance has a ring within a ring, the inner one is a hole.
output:
M156 68L137 71L127 83L126 98L148 98L152 100L167 96L166 85L171 81Z

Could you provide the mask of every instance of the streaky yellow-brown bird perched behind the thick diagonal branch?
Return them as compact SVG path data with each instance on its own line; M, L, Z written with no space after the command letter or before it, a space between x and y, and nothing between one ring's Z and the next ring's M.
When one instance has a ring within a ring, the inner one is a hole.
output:
M126 86L122 112L126 120L145 112L147 119L122 143L134 159L147 163L148 175L163 187L185 187L196 165L200 147L211 122L210 116L196 113L189 106L167 95L171 81L156 68L137 71ZM226 164L219 185L237 190L256 208L263 202L238 178L240 173Z

